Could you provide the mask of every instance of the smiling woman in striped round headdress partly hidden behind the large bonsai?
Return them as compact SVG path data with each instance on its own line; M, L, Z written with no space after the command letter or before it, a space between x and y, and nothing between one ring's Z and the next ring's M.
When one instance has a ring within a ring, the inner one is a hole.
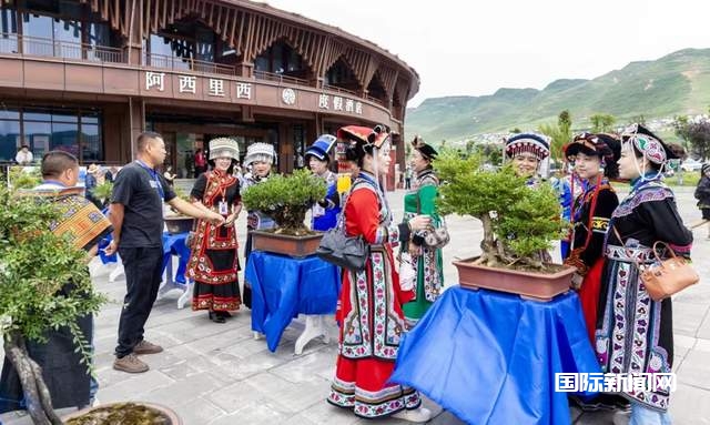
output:
M539 175L540 165L550 155L550 144L546 136L536 133L520 133L506 140L506 156L511 161L515 173L518 176L528 178L528 188L535 189L542 179ZM562 208L560 219L569 221L572 203L571 190L564 180L555 180L552 186L559 194L559 204ZM569 241L560 241L562 257L566 256ZM547 251L540 253L542 261L550 262L551 256Z

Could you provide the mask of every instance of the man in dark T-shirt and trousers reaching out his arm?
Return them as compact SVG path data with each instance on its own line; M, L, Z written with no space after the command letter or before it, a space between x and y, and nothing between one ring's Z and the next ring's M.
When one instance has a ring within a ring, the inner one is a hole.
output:
M113 240L108 255L116 251L125 270L126 294L119 321L119 343L113 368L128 373L149 370L140 354L163 351L143 338L145 322L158 296L163 274L163 202L179 212L214 224L224 217L201 210L175 196L173 189L155 169L165 161L165 142L155 132L141 133L136 140L138 158L125 165L113 184L109 217Z

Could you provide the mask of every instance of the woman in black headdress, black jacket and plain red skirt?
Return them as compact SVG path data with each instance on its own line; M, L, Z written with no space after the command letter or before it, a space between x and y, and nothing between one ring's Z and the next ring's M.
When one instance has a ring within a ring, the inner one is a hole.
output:
M565 264L577 267L572 282L579 290L587 333L594 344L604 270L604 239L611 213L619 205L619 198L608 179L618 176L621 143L610 134L581 133L565 145L564 151L585 188L572 204L571 252Z

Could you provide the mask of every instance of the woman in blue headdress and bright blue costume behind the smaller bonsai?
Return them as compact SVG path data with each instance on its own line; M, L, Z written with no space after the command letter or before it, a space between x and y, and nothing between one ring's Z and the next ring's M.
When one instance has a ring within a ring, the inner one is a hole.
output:
M337 175L328 170L331 156L328 152L335 145L337 139L331 134L323 134L313 142L306 150L306 164L311 171L327 184L327 192L324 199L318 200L313 205L313 220L311 227L317 231L328 231L337 224L337 216L341 213L341 195L337 193Z

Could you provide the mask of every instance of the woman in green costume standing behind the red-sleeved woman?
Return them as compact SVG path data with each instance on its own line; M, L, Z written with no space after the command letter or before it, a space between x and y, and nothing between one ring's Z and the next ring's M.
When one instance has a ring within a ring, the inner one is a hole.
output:
M412 144L414 149L410 166L415 178L412 190L404 196L404 221L426 214L432 217L433 225L443 225L436 212L439 180L432 168L432 161L438 153L418 136L412 141ZM438 297L444 286L444 266L442 249L426 246L424 232L415 233L402 249L416 261L416 297L403 306L407 328L412 328Z

